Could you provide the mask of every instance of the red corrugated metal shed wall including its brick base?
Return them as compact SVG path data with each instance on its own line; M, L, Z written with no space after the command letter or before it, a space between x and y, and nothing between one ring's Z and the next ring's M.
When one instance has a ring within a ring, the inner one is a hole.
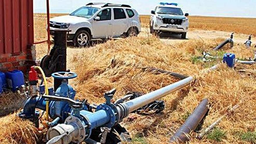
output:
M33 0L0 0L0 70L29 68L33 43Z

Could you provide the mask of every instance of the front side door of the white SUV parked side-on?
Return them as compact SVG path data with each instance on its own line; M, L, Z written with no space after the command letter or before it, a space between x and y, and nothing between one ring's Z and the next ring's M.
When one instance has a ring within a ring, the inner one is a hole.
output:
M108 38L111 36L111 8L101 10L93 19L93 38Z

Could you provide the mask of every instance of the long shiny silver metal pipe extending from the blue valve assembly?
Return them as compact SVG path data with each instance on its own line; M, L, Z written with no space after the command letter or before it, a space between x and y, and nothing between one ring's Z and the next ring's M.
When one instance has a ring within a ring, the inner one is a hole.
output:
M141 97L137 97L135 99L129 100L123 104L128 108L129 113L131 113L132 111L135 111L136 109L139 109L147 104L150 104L151 102L154 102L155 100L157 100L165 95L168 95L169 93L172 93L176 90L179 90L179 89L189 85L193 80L194 80L193 77L187 77L186 79L183 79L176 83L170 84L166 87L160 88L151 93L145 94Z

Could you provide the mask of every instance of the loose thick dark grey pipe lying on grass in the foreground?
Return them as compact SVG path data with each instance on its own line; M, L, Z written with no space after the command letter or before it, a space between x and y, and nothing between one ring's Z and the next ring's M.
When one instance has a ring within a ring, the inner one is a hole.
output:
M208 102L207 98L200 102L186 122L170 138L170 143L184 143L189 140L187 135L189 135L191 131L194 131L205 117L209 109Z

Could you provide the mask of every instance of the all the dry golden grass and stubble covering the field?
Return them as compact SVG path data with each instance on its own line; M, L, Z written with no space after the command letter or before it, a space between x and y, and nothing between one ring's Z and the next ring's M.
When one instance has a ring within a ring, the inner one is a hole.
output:
M54 17L56 15L51 15ZM256 35L256 19L190 17L191 31L197 29L215 31L235 31L240 34ZM35 41L46 39L44 14L35 14ZM147 27L148 16L141 16L143 26ZM249 24L251 23L251 24ZM250 26L249 26L250 25ZM251 31L248 29L250 28ZM146 28L145 28L146 29ZM245 38L246 39L246 38ZM254 39L254 38L253 38ZM117 89L114 99L128 92L149 93L170 83L178 81L165 74L142 71L144 67L157 67L171 72L194 76L195 81L185 88L171 93L161 100L165 109L160 114L131 114L121 124L131 134L130 144L168 143L170 137L185 122L203 98L209 98L210 110L202 126L193 131L189 144L254 144L256 143L256 65L236 64L234 69L221 64L221 68L203 73L220 59L202 62L202 52L223 56L226 52L236 54L237 58L248 59L254 56L254 48L234 44L232 49L225 46L213 51L223 38L199 38L182 42L163 42L158 37L143 31L138 37L109 40L89 48L67 49L67 66L78 77L71 81L77 90L77 99L88 99L90 103L104 102L104 92ZM254 40L253 40L254 41ZM37 58L47 53L47 45L36 46ZM49 82L52 80L49 79ZM8 94L6 94L8 95ZM15 97L15 95L8 95ZM9 100L0 105L8 105ZM209 134L201 140L196 135L221 117L232 106L239 108L225 117ZM0 144L45 143L47 129L36 129L29 121L16 117L13 111L0 118ZM44 120L44 117L42 118Z

